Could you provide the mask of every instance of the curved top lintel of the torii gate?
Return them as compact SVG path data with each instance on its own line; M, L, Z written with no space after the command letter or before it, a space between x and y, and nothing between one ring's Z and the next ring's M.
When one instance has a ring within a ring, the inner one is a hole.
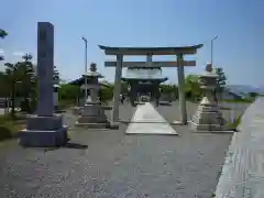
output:
M176 54L196 54L204 44L178 47L111 47L99 45L106 55L176 55Z

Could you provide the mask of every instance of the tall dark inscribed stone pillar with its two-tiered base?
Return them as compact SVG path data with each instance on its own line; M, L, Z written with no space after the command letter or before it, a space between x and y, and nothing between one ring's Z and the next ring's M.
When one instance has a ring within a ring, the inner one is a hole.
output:
M26 129L19 135L23 146L59 146L67 141L67 127L62 114L54 114L54 26L48 22L37 23L37 85L36 114L28 117Z

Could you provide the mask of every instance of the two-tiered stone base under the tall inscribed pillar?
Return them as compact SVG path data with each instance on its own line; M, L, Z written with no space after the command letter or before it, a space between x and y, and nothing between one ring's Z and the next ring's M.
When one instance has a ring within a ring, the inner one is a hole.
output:
M63 125L63 117L29 116L26 129L19 133L22 146L54 147L64 145L68 141L67 125Z

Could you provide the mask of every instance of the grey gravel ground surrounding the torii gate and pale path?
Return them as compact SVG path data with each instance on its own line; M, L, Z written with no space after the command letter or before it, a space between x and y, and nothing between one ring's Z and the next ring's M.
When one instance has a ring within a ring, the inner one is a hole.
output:
M179 118L177 103L157 108ZM188 105L189 117L195 105ZM135 108L121 106L129 121ZM107 113L110 114L109 112ZM65 114L73 125L75 117ZM70 129L72 147L21 148L0 144L0 197L4 198L209 198L231 134L125 135L120 130ZM88 146L88 147L87 147Z

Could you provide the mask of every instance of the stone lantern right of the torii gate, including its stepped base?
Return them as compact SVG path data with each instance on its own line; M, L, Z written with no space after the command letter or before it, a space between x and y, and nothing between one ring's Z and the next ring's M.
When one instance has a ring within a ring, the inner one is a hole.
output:
M200 85L204 89L204 98L190 121L191 129L197 132L227 131L226 121L213 97L217 78L218 75L212 72L211 64L207 64L206 74L199 76Z

